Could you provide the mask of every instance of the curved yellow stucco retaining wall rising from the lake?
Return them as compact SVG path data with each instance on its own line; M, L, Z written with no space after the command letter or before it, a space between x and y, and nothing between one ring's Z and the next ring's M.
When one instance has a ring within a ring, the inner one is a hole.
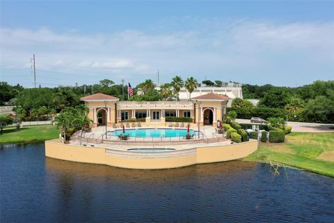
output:
M257 141L248 141L241 144L200 147L196 148L196 153L177 157L121 157L107 155L105 148L60 144L58 140L45 141L45 156L47 157L128 169L168 169L192 164L237 160L256 150Z

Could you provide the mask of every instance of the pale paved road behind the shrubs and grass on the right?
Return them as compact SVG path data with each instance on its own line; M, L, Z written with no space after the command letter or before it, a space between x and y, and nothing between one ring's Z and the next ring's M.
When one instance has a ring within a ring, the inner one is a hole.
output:
M237 118L238 123L250 123L249 119ZM334 131L334 124L322 123L298 123L288 121L287 125L292 127L292 132L331 132Z

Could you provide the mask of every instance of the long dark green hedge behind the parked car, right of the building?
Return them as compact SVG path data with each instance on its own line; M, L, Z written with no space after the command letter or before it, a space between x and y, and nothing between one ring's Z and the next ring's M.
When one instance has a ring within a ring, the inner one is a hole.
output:
M286 118L285 109L278 109L272 107L254 107L254 108L244 108L244 107L230 107L227 112L234 111L237 112L238 118L250 119L252 117L260 118Z

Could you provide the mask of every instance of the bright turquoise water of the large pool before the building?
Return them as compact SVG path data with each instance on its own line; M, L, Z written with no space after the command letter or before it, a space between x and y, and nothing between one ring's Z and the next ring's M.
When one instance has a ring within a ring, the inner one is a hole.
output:
M186 135L186 129L171 129L171 128L141 128L141 129L125 129L115 130L109 132L113 136L118 136L119 134L129 134L130 137L184 137ZM190 134L194 134L193 130L190 130Z

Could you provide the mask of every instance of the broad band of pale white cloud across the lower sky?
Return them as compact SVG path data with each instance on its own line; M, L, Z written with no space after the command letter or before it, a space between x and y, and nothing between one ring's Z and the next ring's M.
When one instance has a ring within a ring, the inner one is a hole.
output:
M268 75L288 78L292 73L311 74L320 66L325 74L334 71L334 22L194 21L191 30L155 33L1 28L1 68L13 68L13 61L23 64L35 52L38 68L68 73L79 69L83 81L86 73L104 72L141 82L154 79L158 68L166 81L184 74L247 82L247 74L257 74L269 82Z

